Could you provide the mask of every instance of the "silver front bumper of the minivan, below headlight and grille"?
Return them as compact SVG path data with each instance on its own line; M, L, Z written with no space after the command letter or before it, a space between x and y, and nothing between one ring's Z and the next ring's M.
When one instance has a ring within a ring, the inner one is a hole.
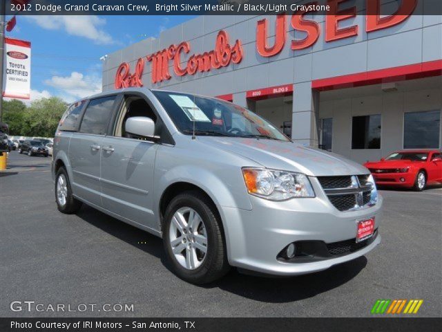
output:
M222 208L229 263L238 268L269 275L302 275L326 270L365 255L381 242L379 225L383 199L370 208L340 212L329 202L318 183L312 183L314 199L274 202L251 196L252 210ZM283 261L278 254L289 243L323 241L336 243L355 239L356 222L375 217L377 236L354 252L326 259Z

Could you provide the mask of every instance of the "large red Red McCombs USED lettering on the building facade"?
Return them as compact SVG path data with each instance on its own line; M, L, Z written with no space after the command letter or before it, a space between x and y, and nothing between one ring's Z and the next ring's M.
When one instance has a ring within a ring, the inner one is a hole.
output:
M325 15L325 42L334 42L338 39L356 36L359 33L359 26L347 26L339 28L340 21L356 17L356 7L340 10L340 3L349 0L327 0L330 7L329 13ZM396 24L405 21L407 17L412 15L416 8L418 0L402 0L400 1L398 10L394 15L381 15L381 0L366 0L367 12L377 13L376 15L365 16L365 31L372 33L376 30L390 28ZM318 5L314 1L307 3L308 5ZM305 15L313 11L299 10L291 15L290 24L294 30L302 31L307 34L304 39L294 39L291 41L292 50L302 50L314 45L320 37L319 24L311 19L307 19ZM268 20L262 19L257 22L256 27L256 50L262 57L273 57L282 51L285 47L287 39L287 15L277 15L276 17L276 35L273 45L269 45ZM237 39L231 45L229 43L229 35L224 30L220 30L215 39L215 48L202 54L193 54L189 57L186 64L182 64L182 55L191 51L189 42L173 44L169 48L164 48L146 57L138 59L135 65L135 72L131 73L131 68L127 62L120 64L115 75L115 89L122 89L129 86L143 86L142 75L146 61L152 62L151 82L158 83L171 79L169 71L170 64L173 63L173 73L177 76L195 75L197 72L205 72L215 70L221 67L229 66L229 64L238 64L244 57L242 50L242 42Z

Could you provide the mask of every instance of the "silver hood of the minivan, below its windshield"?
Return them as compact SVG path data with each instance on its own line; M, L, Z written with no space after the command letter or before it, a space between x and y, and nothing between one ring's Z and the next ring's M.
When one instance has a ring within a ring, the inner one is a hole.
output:
M300 172L309 176L369 173L368 169L352 160L294 142L213 136L198 136L198 141L204 145L249 158L262 167L271 169Z

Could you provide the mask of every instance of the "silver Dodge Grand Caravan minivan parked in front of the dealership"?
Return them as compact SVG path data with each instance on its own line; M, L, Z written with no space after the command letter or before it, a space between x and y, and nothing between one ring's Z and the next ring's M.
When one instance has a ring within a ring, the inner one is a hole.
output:
M195 284L230 266L325 270L381 241L368 169L200 95L130 88L72 104L52 176L59 211L86 203L162 237L175 273Z

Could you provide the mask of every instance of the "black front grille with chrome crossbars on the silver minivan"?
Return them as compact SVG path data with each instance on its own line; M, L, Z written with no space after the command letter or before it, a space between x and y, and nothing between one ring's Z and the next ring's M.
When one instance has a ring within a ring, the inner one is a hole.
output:
M371 200L372 183L369 174L358 176L319 176L329 201L339 211L363 208Z

